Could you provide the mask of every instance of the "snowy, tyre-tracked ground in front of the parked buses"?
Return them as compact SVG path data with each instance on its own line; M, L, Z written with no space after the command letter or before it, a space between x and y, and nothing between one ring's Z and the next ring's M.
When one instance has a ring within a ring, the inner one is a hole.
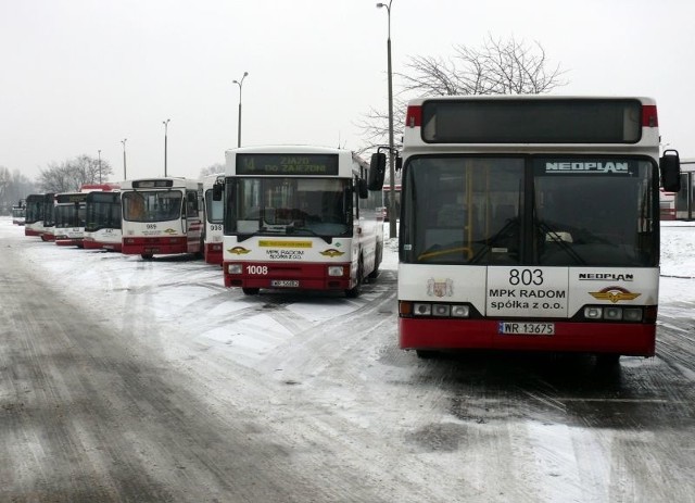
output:
M695 502L682 295L658 355L618 368L418 361L396 347L392 252L358 299L248 298L200 261L7 217L0 243L0 501Z

